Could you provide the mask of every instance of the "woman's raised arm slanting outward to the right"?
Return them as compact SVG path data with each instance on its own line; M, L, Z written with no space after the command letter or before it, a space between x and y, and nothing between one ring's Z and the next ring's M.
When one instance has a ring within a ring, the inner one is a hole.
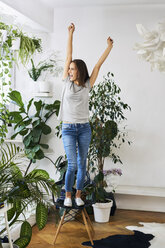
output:
M108 39L107 39L107 44L108 44L107 48L105 49L104 53L102 54L102 56L98 60L97 64L93 68L92 74L90 76L90 85L91 85L91 87L93 87L93 85L94 85L94 83L96 81L96 78L98 76L100 67L102 66L102 64L104 63L106 58L108 57L108 55L109 55L109 53L110 53L110 51L111 51L111 49L113 47L113 40L110 37L108 37Z

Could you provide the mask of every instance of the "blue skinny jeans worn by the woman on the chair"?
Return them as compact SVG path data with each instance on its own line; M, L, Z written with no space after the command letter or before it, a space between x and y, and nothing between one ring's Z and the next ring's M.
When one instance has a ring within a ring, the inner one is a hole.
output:
M63 123L62 140L68 160L65 175L65 190L71 192L77 170L77 190L82 190L86 174L86 159L91 141L91 128L89 123Z

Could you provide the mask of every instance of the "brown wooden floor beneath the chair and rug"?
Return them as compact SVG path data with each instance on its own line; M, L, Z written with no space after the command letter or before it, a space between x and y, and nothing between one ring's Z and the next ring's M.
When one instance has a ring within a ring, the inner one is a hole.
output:
M132 234L125 226L138 225L138 222L165 223L165 213L119 209L116 210L115 216L110 217L109 223L95 223L93 216L90 216L90 218L95 230L93 239L101 239L114 234ZM53 241L57 229L54 223L54 215L50 214L49 221L43 230L38 231L37 226L34 226L32 240L28 248L85 248L81 243L89 240L88 234L85 226L76 221L67 222L62 226L54 246Z

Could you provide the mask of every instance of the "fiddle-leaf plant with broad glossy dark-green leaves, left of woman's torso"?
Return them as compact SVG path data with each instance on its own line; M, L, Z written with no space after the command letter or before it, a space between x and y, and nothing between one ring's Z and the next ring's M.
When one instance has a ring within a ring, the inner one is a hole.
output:
M60 101L46 104L41 100L34 101L32 98L25 105L18 91L10 92L9 98L18 106L18 110L10 112L12 123L15 124L15 133L11 138L14 139L18 134L23 137L25 154L30 159L30 167L31 163L46 157L43 149L48 149L49 145L41 143L41 137L51 133L51 127L46 122L53 114L58 115ZM35 112L30 111L32 107L35 107Z

